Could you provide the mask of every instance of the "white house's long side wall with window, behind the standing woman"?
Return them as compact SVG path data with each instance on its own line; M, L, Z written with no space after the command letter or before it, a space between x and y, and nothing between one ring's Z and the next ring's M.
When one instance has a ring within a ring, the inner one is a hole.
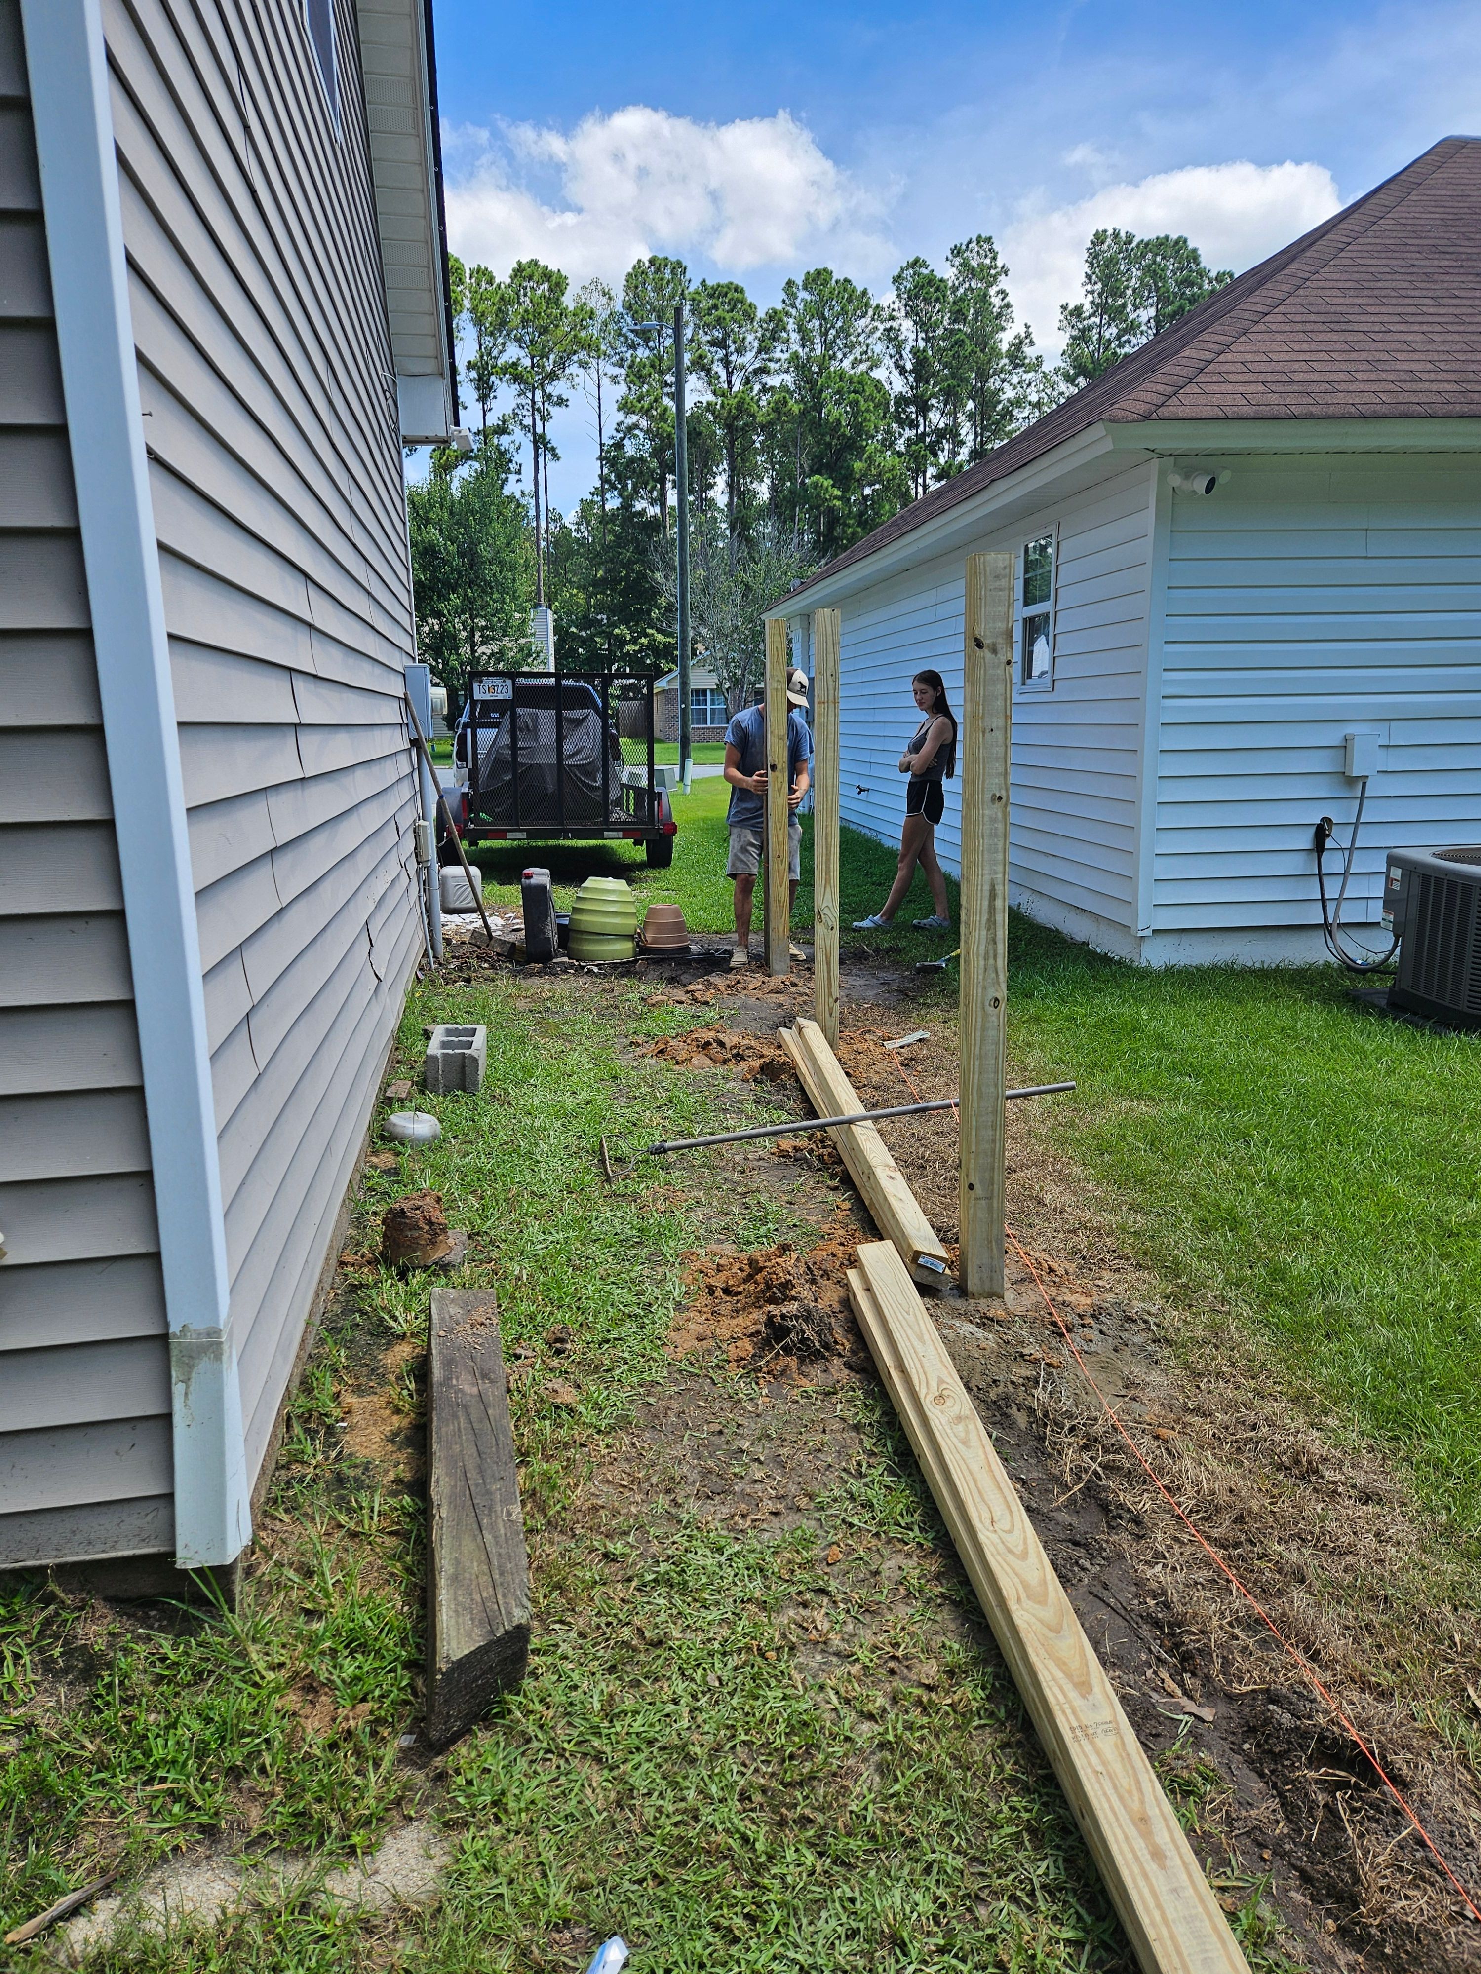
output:
M1019 553L1058 525L1054 689L1015 687L1011 886L1033 916L1112 949L1135 940L1137 797L1153 539L1145 464L906 570L841 604L839 811L893 841L904 813L896 760L916 728L912 673L942 673L962 709L964 565ZM962 867L962 801L946 784L942 863Z

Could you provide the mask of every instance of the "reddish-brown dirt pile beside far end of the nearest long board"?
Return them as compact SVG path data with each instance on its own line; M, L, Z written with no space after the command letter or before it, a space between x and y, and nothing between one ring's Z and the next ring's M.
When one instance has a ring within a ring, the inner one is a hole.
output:
M719 1346L731 1370L792 1378L827 1358L857 1356L863 1344L843 1279L853 1250L851 1238L837 1236L808 1253L780 1246L693 1255L689 1303L669 1330L671 1356Z

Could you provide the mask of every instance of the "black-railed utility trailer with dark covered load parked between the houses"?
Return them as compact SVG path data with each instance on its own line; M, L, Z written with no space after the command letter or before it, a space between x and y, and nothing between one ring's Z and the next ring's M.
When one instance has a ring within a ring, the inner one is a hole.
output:
M658 673L476 671L444 788L464 843L642 843L673 863L654 726ZM444 857L452 845L444 845Z

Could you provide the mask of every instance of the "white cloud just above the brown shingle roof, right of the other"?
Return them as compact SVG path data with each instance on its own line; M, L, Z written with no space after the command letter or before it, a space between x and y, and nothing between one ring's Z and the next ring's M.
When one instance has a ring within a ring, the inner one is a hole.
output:
M1329 219L1341 205L1321 164L1191 164L1135 186L1104 186L1074 205L1019 207L1003 231L1003 259L1019 320L1041 347L1058 349L1060 302L1080 294L1084 251L1098 227L1187 233L1210 266L1242 272Z

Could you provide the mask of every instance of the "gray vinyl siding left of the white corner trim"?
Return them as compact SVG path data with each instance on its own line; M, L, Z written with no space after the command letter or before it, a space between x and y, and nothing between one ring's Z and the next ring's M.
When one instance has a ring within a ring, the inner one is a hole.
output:
M0 0L0 1567L168 1550L170 1368L16 0Z

